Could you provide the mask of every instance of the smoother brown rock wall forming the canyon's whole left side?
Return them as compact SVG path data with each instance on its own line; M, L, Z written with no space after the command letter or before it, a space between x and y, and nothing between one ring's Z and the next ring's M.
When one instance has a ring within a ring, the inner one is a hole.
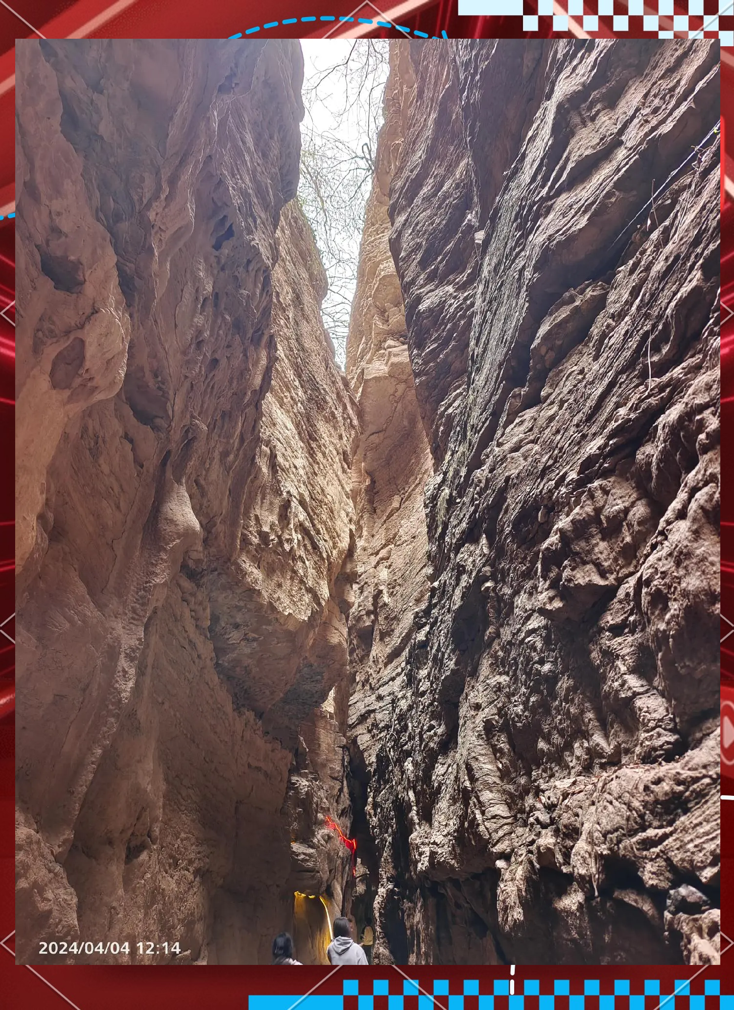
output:
M350 876L355 414L284 210L301 78L289 41L18 44L21 962L267 963L298 882Z

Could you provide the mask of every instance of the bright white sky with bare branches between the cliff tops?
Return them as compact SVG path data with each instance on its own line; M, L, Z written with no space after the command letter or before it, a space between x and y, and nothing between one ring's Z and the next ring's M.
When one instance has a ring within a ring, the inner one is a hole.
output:
M298 198L326 270L321 311L343 369L371 161L383 122L388 42L302 39L301 47L306 112Z

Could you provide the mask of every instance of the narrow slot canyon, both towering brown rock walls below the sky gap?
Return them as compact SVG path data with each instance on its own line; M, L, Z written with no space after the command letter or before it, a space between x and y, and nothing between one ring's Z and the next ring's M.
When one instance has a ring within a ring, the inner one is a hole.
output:
M17 961L718 964L718 43L16 52Z

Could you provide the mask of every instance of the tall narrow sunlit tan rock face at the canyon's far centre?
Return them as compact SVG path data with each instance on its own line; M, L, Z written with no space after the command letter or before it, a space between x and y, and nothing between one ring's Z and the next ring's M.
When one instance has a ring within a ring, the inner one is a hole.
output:
M394 47L385 100L386 123L377 150L376 176L364 215L356 291L346 346L346 373L359 406L360 435L353 467L357 571L349 615L352 680L349 727L351 792L358 811L352 824L360 855L354 918L362 927L399 914L393 908L389 845L378 870L370 821L387 805L393 781L396 727L410 719L406 655L415 615L428 599L427 532L423 489L433 473L428 440L408 355L400 282L388 238L389 186L402 136L402 80L407 52ZM400 65L400 70L398 69ZM389 748L386 739L393 740ZM385 762L388 762L385 765ZM371 790L380 765L379 792ZM365 817L366 811L370 811ZM373 908L373 906L375 906ZM380 939L375 947L380 956ZM407 962L407 949L398 954Z

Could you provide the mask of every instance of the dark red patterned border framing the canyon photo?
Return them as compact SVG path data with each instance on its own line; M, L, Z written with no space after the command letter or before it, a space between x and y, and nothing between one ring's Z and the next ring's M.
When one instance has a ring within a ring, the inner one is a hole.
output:
M14 9L24 14L31 23L38 23L39 28L46 30L43 32L53 37L64 37L71 35L80 24L84 24L100 13L109 9L107 0L80 0L78 3L70 0L16 0ZM105 22L95 33L105 37L168 37L169 25L172 20L172 13L175 13L177 31L180 34L189 34L198 37L227 37L240 28L244 27L243 18L252 19L256 22L260 18L282 18L289 16L293 10L292 0L269 0L267 12L264 12L261 3L248 2L246 4L235 3L232 0L223 0L217 5L201 4L199 0L136 0L134 4L125 4L125 0L119 0L119 14L114 20ZM259 8L259 10L257 10ZM286 9L288 8L288 9ZM401 21L409 25L412 29L418 28L429 34L440 34L441 30L446 30L449 34L461 35L463 37L503 37L530 35L537 37L538 34L550 36L552 32L551 19L540 18L538 32L517 31L517 19L515 18L457 18L455 14L455 0L440 0L440 2L421 2L410 5L412 13L406 13ZM54 20L53 30L48 29L48 22ZM609 19L611 22L611 19ZM724 24L728 20L722 18L722 27L729 27ZM734 18L731 18L734 26ZM630 25L632 28L632 25ZM302 27L299 26L300 30ZM294 27L293 34L299 34L299 28ZM314 34L323 34L327 26L319 27ZM22 25L18 25L17 19L7 12L4 7L0 7L0 129L6 138L6 143L0 145L0 207L5 207L14 198L14 187L12 183L12 144L7 142L11 135L12 114L13 114L13 87L12 77L14 73L14 53L12 40L16 35L23 32ZM29 32L28 32L29 33ZM376 34L394 34L394 32L380 31ZM562 34L569 34L564 32ZM631 31L630 33L637 34ZM606 19L600 19L599 34L603 37L612 35L611 23L607 24ZM650 35L650 33L646 33ZM653 36L654 37L654 36ZM3 44L3 39L5 43ZM727 75L724 75L724 83L728 85ZM731 102L734 113L734 71L732 71L732 87L724 89L723 104ZM730 117L734 119L734 114ZM734 164L734 163L733 163ZM0 221L0 308L5 308L14 298L14 229L12 221L7 216ZM723 304L734 305L734 205L727 204L722 216L722 272L724 275L722 287ZM723 315L726 312L723 310ZM8 341L14 347L14 328L12 325L13 312L9 309L4 315L0 314L0 337ZM722 383L723 393L723 415L724 427L728 430L731 423L731 410L734 405L734 314L724 324L724 343L722 354ZM10 453L12 451L11 431L10 431L10 411L12 410L12 400L14 393L11 391L12 376L14 374L14 356L3 356L0 361L0 408L4 411L2 419L5 424L4 437L0 440L2 445L3 472L6 474L5 482L0 486L0 505L2 515L0 523L12 521L13 514L10 510L11 496L11 463ZM4 402L9 401L9 402ZM723 578L722 578L722 599L725 613L732 615L734 620L734 514L729 514L731 508L729 502L728 482L731 480L726 472L724 481L724 519L731 522L732 533L724 527L724 547L723 547ZM12 601L12 558L9 548L10 530L12 525L0 525L0 544L3 551L0 559L5 559L0 564L0 620L9 614L13 607ZM5 625L13 635L12 624ZM723 632L724 633L724 632ZM729 647L731 645L731 648ZM729 639L729 645L722 646L722 664L725 677L730 677L734 684L734 635ZM0 687L7 687L14 684L12 668L12 647L3 648L0 646ZM13 785L13 755L14 736L13 726L8 720L0 719L0 939L5 938L4 948L0 948L0 1005L17 1006L28 1005L38 1010L45 1007L60 1008L63 1006L76 1006L79 1010L91 1010L101 1003L109 1010L129 1010L131 1005L136 1008L177 1007L180 1010L194 1010L202 1006L216 1005L223 1008L237 1007L245 1005L247 993L276 994L283 992L284 988L289 991L308 992L317 987L319 993L340 994L342 992L341 973L337 973L327 979L328 970L319 968L303 968L296 976L290 973L284 977L282 969L254 968L254 967L210 967L203 973L183 972L177 968L159 967L154 971L143 966L135 967L97 967L97 968L43 968L40 972L35 969L16 967L12 956L12 935L14 921L14 874L13 874L13 807L14 807L14 785ZM734 792L734 784L732 784ZM731 925L728 909L734 907L734 886L732 885L731 863L732 851L730 839L734 837L734 802L724 803L723 816L725 820L724 829L724 929L730 935L734 931ZM731 825L731 830L729 829ZM730 954L730 957L732 955ZM360 978L365 981L372 978L386 977L389 972L396 970L388 969L361 969ZM479 978L481 992L491 991L490 980L495 978L508 978L508 968L474 968L469 970L473 978ZM703 974L702 974L703 973ZM464 968L418 968L409 969L410 978L418 979L420 985L426 992L432 992L432 980L434 978L448 979L451 985L450 992L459 992L455 987L459 980L467 974ZM526 977L540 980L541 992L552 992L552 980L558 974L558 970L552 967L518 969L515 979L518 983L518 991L522 992L522 980ZM720 977L720 972L714 969L700 970L696 968L657 968L653 970L653 977L659 978L662 983L662 992L672 992L672 986L678 980L692 979L691 993L700 994L704 992L704 980ZM631 992L642 992L640 988L645 978L650 977L650 970L646 968L594 968L566 967L562 970L562 975L570 981L570 992L581 992L580 983L590 977L599 979L601 982L601 992L613 993L614 980L619 978L629 979ZM284 979L288 979L284 985ZM327 981L324 982L324 980ZM366 990L365 990L366 991ZM397 990L396 990L397 991ZM731 992L731 986L725 983L725 992ZM378 1000L376 999L376 1006ZM349 998L348 998L349 999ZM354 999L351 997L350 999ZM469 999L471 999L469 997ZM530 997L530 1000L533 998ZM567 997L556 997L556 1010L564 1010L563 1001ZM707 999L708 1004L712 997ZM645 1010L657 1010L659 1000L647 997L645 999ZM672 1006L672 1002L667 1004ZM497 1010L506 1010L507 997L499 997L496 1002Z

